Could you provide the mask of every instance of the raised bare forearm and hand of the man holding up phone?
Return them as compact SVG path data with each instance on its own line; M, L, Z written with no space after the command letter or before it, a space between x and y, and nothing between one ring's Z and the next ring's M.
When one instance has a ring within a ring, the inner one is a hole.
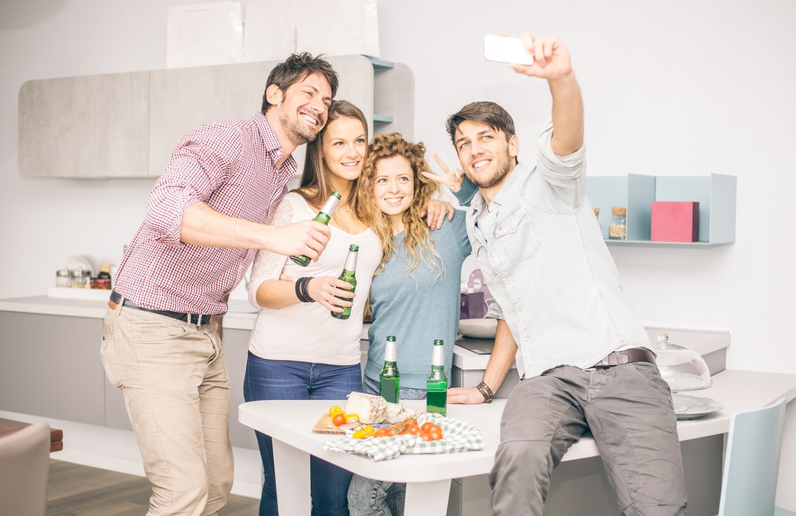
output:
M568 156L583 146L583 99L569 52L554 36L523 33L533 64L509 64L514 72L546 79L552 95L552 150Z

